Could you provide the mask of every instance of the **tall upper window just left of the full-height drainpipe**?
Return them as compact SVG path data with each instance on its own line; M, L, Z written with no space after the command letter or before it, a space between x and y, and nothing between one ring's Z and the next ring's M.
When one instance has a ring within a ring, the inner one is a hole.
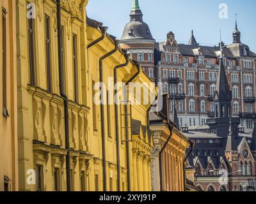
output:
M46 72L47 72L47 91L52 92L51 82L51 20L45 15L45 48L46 48Z

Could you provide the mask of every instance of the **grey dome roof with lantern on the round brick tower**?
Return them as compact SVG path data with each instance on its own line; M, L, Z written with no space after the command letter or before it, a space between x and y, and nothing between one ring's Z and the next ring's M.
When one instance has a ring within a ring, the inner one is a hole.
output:
M143 22L141 10L131 11L131 21L125 25L122 40L154 40L148 24Z

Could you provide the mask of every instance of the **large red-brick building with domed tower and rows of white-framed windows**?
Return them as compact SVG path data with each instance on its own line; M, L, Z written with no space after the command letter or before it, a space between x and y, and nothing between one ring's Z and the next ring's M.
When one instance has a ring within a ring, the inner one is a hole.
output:
M219 45L209 47L196 42L193 31L188 45L178 44L175 34L156 42L143 14L134 1L131 21L125 25L120 39L132 59L139 61L145 73L155 82L163 82L163 91L176 101L179 126L205 125L214 117L213 96L216 90L220 61ZM239 116L246 133L253 131L255 113L256 54L241 43L241 33L234 31L233 43L223 46L223 62L228 85L232 90L232 115ZM170 111L172 112L172 101ZM170 113L172 115L172 113Z

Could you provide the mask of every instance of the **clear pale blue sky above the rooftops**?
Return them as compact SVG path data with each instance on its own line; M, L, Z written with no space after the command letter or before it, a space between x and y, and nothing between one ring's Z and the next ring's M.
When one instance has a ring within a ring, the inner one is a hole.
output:
M219 5L227 4L228 18L219 18ZM132 0L89 0L88 16L108 26L108 33L122 36L129 22ZM143 20L147 22L157 41L163 41L173 31L179 43L187 43L194 30L201 45L215 45L220 41L232 43L232 32L237 23L242 43L256 52L255 0L140 0Z

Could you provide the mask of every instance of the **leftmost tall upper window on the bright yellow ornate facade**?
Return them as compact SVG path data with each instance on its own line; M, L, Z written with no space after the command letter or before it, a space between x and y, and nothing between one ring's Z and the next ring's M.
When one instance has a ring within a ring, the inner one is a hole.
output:
M28 3L29 4L29 3ZM29 8L29 9L32 9ZM36 85L36 71L35 71L35 19L28 18L28 44L29 44L29 71L30 84Z

